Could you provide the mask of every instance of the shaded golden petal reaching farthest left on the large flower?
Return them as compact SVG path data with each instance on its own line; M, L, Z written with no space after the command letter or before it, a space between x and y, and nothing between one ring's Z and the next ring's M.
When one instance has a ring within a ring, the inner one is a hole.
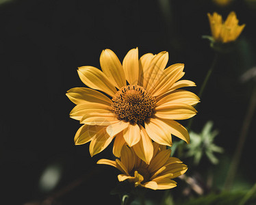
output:
M67 91L66 96L76 105L85 102L97 102L109 106L112 104L110 98L101 92L86 87L74 87Z

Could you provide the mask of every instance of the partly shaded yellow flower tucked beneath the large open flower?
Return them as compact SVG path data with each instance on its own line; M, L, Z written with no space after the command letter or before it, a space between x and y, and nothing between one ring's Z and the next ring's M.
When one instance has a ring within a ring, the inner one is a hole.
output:
M132 148L123 146L120 160L112 161L100 159L97 164L111 165L119 169L123 174L118 175L120 182L128 180L133 182L135 187L149 189L171 189L177 186L177 182L171 180L184 174L188 167L179 159L170 157L170 149L166 146L159 146L153 143L153 158L146 164L133 152Z

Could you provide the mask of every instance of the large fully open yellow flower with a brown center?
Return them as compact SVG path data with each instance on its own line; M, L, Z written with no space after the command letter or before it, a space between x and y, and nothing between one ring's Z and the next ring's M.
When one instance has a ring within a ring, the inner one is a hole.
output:
M175 120L194 116L192 106L199 98L192 92L177 90L195 84L178 81L184 75L184 65L166 68L167 61L166 51L146 53L138 59L136 48L127 53L122 66L114 52L105 49L100 57L102 71L92 66L79 67L81 81L92 89L75 87L66 94L76 104L71 118L84 124L75 135L75 144L90 141L93 156L115 137L113 153L117 157L127 143L149 163L153 156L151 139L171 146L172 134L189 143L188 131Z

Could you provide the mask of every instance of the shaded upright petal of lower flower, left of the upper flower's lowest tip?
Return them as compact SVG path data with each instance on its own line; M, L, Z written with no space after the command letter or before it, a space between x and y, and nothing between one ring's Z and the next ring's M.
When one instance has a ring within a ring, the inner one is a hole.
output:
M133 169L135 164L135 155L131 148L128 148L127 146L123 146L120 154L120 159L123 165L127 167L128 173L131 172L131 169Z

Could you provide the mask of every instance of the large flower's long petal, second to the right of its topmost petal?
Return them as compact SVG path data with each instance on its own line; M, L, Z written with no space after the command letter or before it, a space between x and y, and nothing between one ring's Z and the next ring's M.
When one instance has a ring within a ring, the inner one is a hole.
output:
M154 90L154 87L159 84L159 79L161 79L164 74L164 68L166 68L168 58L168 52L162 51L151 60L151 66L145 71L146 74L150 74L146 84L146 89L149 90L149 92Z

